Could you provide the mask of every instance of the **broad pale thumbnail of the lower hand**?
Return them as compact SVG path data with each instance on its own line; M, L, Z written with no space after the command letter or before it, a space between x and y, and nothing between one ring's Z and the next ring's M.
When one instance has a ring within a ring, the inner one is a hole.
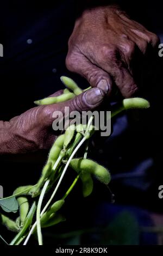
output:
M85 93L85 99L89 105L96 105L99 101L103 100L104 96L104 92L97 87L92 88Z

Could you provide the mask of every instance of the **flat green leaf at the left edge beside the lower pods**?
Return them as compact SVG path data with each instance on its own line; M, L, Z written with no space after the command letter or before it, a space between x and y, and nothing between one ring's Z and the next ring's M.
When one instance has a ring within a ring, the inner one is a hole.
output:
M0 206L5 212L15 213L18 210L18 203L15 197L1 200Z

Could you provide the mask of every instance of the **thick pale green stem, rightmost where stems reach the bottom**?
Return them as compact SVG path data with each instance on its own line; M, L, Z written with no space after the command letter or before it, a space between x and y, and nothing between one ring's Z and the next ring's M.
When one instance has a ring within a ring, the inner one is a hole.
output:
M36 211L36 222L37 222L37 237L38 237L38 241L39 241L39 245L43 245L42 243L42 234L41 234L41 222L40 222L40 212L41 212L41 205L42 205L42 201L43 201L43 197L45 196L45 192L47 190L47 186L49 184L50 180L47 180L45 182L45 185L42 188L40 197L39 197L39 202L37 205L37 211Z

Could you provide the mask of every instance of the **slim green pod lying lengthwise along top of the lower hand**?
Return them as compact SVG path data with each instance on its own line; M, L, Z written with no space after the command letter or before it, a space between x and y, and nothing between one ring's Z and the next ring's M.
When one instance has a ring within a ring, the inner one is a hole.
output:
M73 93L67 93L67 94L59 95L57 97L47 97L42 100L36 100L36 101L34 101L34 103L36 105L50 105L50 104L54 104L54 103L71 100L71 99L73 99L73 97L75 97L75 95Z

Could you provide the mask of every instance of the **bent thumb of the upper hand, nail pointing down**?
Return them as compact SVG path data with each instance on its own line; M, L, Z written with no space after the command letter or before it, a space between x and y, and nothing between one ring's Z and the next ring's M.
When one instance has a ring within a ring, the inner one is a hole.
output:
M68 54L66 58L67 69L76 72L86 78L91 84L91 87L98 87L104 90L106 94L111 92L112 78L111 76L91 63L82 54L76 56L76 54Z

